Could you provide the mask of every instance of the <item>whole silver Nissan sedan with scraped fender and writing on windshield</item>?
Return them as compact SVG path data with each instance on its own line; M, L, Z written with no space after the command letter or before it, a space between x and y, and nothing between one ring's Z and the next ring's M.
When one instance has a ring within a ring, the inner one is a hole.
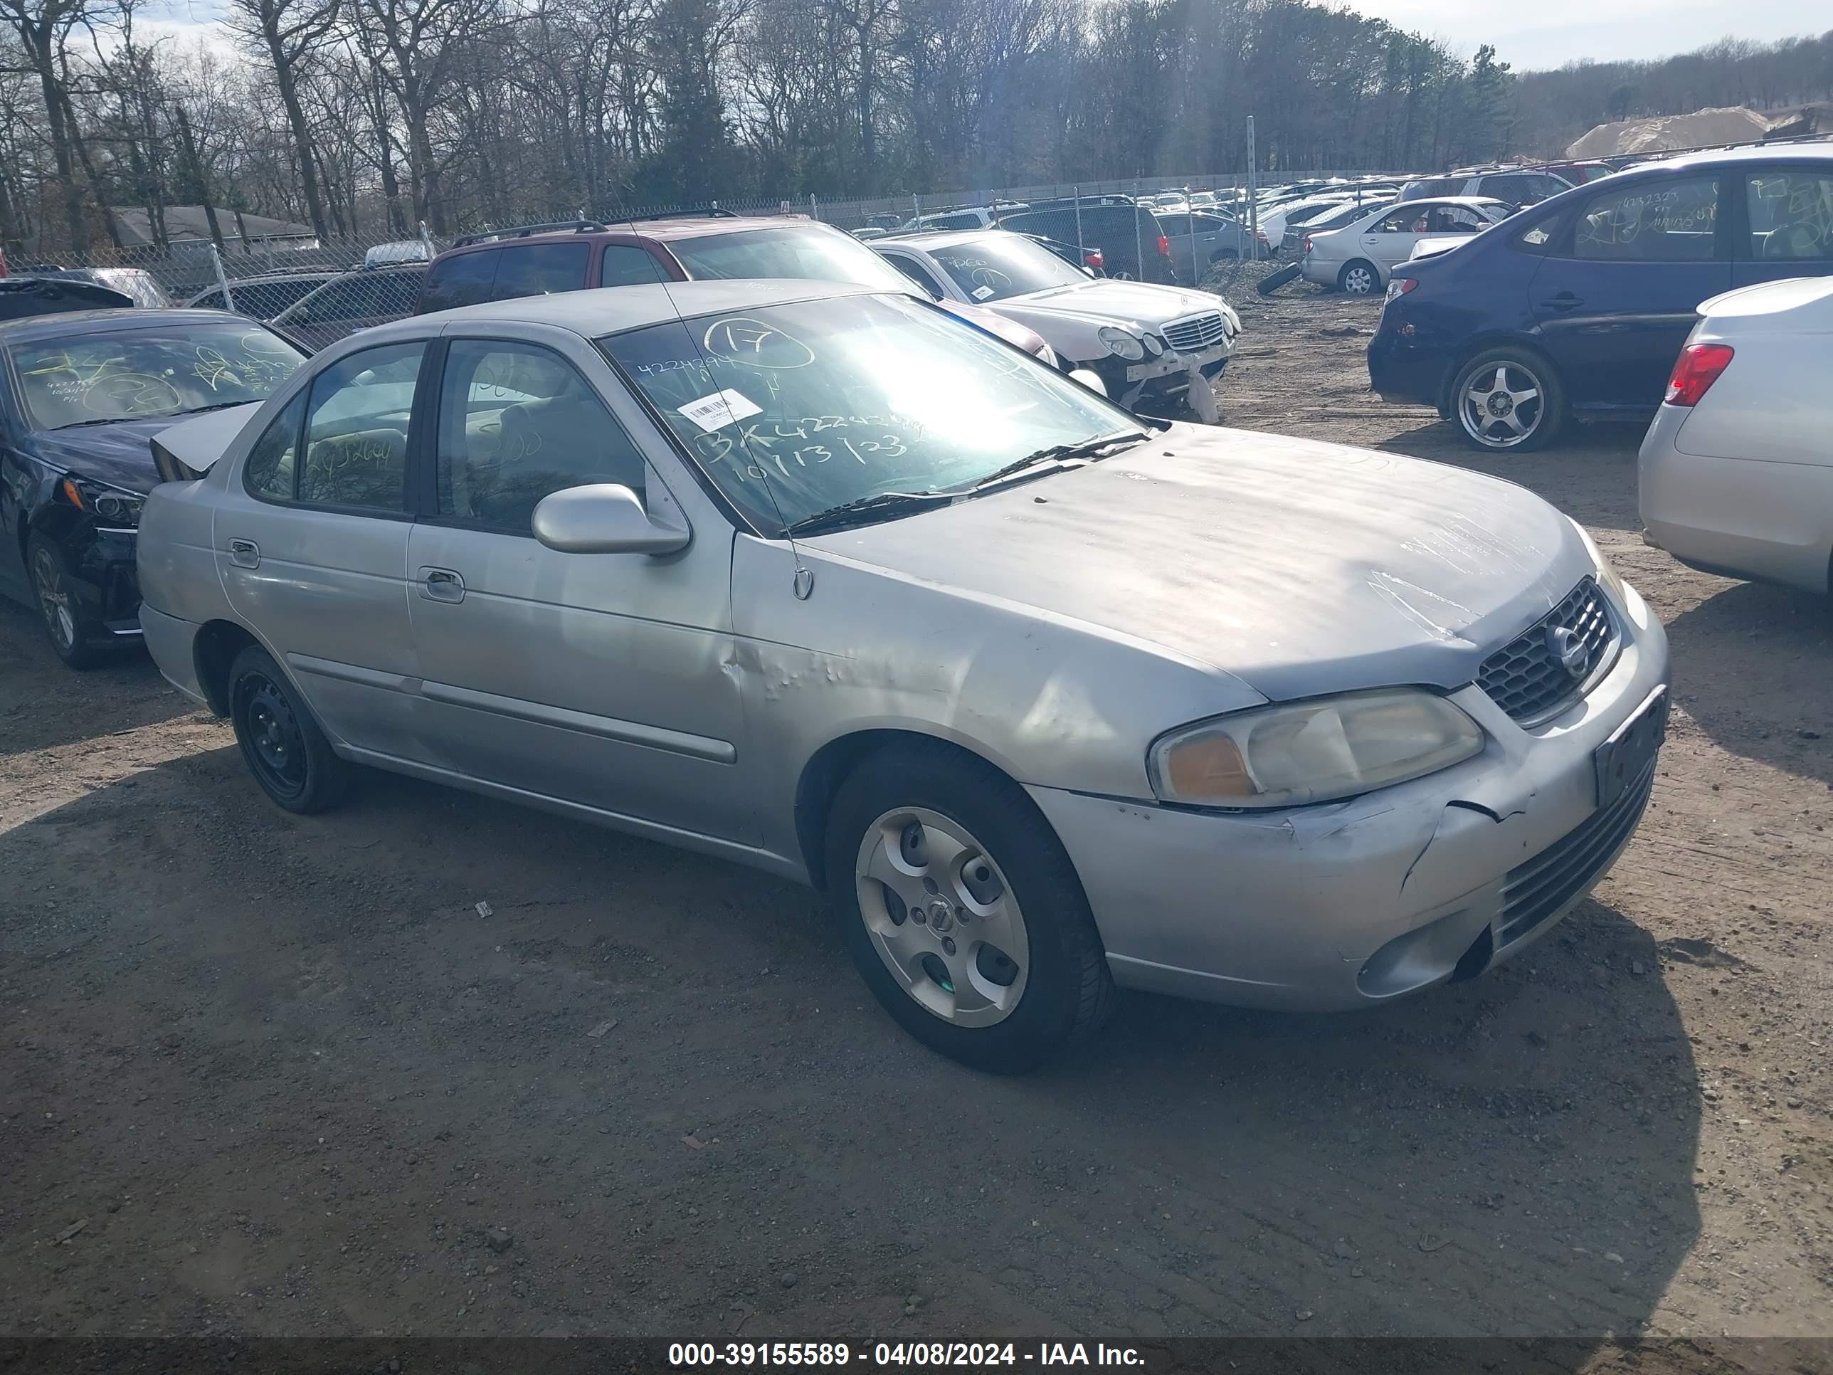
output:
M273 801L374 764L814 884L973 1065L1114 984L1477 974L1653 783L1661 623L1538 497L1142 422L907 295L422 315L159 451L147 644Z

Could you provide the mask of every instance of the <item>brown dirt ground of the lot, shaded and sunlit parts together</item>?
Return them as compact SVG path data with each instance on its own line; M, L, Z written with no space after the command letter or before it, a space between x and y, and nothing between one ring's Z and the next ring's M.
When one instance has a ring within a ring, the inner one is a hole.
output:
M394 777L282 814L5 607L0 1335L1833 1335L1833 612L1644 546L1637 433L1477 462L1367 392L1375 302L1232 297L1226 424L1523 482L1664 618L1653 803L1556 935L984 1078L799 889Z

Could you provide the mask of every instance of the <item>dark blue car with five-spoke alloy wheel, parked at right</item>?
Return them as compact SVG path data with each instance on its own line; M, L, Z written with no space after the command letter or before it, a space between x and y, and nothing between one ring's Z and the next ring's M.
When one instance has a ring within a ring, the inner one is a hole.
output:
M1397 266L1369 383L1435 405L1479 449L1536 449L1569 416L1650 418L1701 301L1822 273L1833 145L1648 163Z

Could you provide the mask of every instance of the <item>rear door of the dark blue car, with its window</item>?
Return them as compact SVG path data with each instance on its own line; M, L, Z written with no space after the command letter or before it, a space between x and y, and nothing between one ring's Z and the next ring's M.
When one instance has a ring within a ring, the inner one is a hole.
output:
M1600 185L1542 258L1529 304L1578 409L1652 411L1707 297L1730 286L1712 172Z

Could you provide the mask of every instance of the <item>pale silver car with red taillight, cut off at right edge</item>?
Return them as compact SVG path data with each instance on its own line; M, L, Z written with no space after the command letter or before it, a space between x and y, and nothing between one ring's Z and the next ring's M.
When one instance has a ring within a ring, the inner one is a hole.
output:
M1763 282L1701 304L1642 438L1648 537L1692 568L1833 590L1829 374L1833 279Z

